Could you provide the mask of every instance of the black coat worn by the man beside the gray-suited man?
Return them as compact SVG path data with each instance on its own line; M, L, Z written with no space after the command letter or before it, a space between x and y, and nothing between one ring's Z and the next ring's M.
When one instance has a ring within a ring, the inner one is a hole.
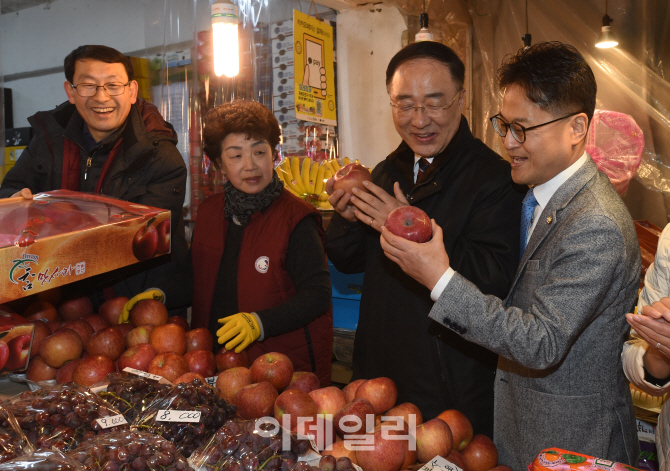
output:
M475 139L464 117L428 175L414 184L414 152L403 142L372 172L389 194L399 182L411 205L444 231L454 270L484 293L504 298L519 261L523 192L510 166ZM335 214L326 252L344 273L365 272L354 345L354 377L387 376L398 403L416 404L428 420L446 409L465 413L475 433L493 432L497 356L428 318L430 291L386 258L379 232Z

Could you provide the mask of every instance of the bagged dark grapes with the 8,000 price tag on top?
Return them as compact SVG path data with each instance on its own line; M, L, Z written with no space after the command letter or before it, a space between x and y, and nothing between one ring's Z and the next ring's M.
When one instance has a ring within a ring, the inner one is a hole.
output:
M199 411L198 422L162 422L159 410ZM170 440L187 458L236 412L235 406L216 395L214 388L199 379L179 383L170 394L154 401L133 423L135 428Z

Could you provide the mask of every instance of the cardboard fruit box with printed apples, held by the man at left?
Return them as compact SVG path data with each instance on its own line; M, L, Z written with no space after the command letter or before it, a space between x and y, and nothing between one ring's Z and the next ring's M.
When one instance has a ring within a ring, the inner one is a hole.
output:
M55 190L0 200L0 303L169 253L170 211Z

